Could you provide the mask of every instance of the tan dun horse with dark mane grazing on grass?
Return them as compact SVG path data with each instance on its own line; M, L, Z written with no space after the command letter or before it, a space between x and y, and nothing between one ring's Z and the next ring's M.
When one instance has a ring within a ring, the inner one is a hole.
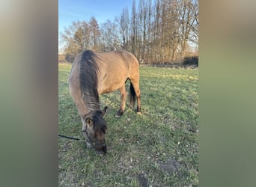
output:
M99 95L119 90L121 104L116 116L121 117L126 106L125 84L129 79L129 104L133 107L135 97L138 114L141 114L139 89L139 64L132 53L112 51L96 53L91 50L76 55L69 76L70 95L82 120L82 132L98 155L107 153L105 135L107 107L100 109Z

